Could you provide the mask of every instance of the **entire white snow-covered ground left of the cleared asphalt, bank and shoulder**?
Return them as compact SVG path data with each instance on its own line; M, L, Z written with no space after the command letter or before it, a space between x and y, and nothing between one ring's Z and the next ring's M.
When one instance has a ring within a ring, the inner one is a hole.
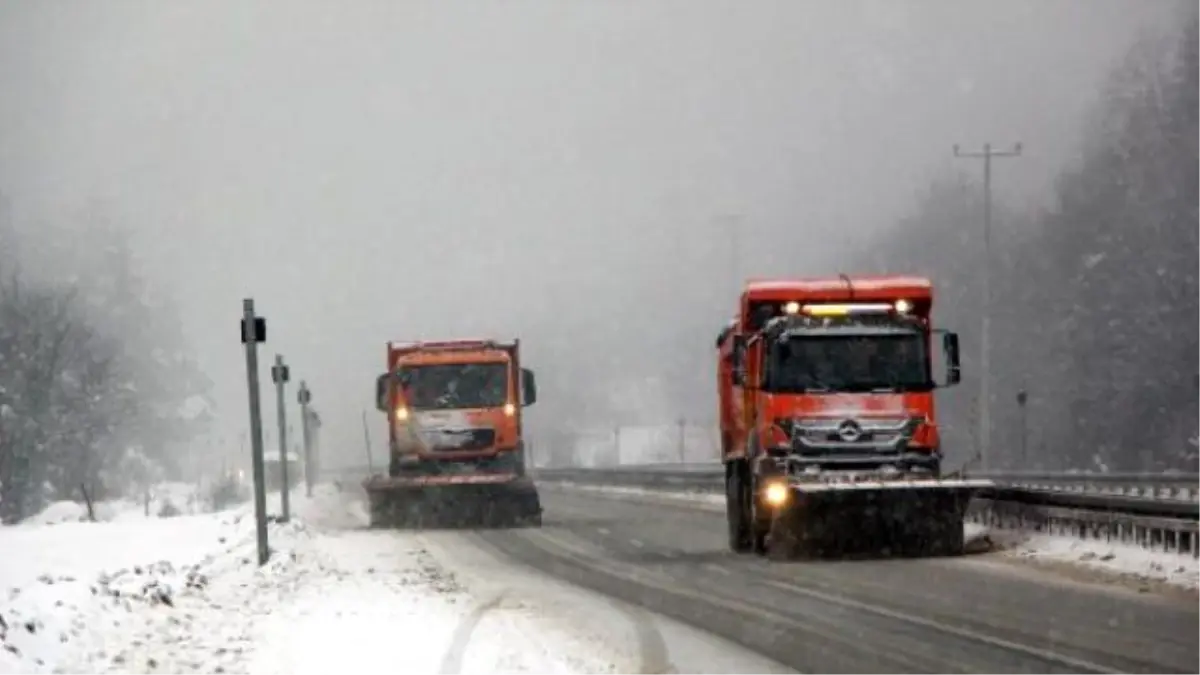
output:
M264 567L245 506L0 527L0 674L791 673L469 536L368 531L355 495L300 494Z

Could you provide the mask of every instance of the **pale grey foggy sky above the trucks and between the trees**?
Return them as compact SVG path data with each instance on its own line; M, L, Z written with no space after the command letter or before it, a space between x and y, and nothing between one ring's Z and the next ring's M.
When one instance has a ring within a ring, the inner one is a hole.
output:
M244 297L329 462L358 456L388 340L520 336L541 428L710 420L740 277L841 270L955 143L1022 142L997 193L1046 199L1175 7L6 2L0 193L34 235L133 232L222 443Z

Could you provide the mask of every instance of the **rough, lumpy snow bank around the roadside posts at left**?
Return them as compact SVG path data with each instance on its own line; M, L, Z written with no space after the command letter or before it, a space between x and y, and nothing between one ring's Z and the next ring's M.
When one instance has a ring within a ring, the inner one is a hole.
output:
M298 514L331 510L306 502L298 500ZM259 568L251 507L170 519L119 512L107 522L54 518L68 514L54 504L38 519L53 526L0 528L0 673L210 669L214 655L245 649L221 611L241 611L256 593L269 598L281 577L302 567L299 551L311 538L302 520L272 524L275 552Z

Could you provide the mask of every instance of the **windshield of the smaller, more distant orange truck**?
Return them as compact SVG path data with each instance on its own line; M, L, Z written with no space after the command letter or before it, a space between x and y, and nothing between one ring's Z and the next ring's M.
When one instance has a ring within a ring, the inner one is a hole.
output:
M408 405L414 410L503 406L509 398L509 366L504 363L455 363L407 366Z

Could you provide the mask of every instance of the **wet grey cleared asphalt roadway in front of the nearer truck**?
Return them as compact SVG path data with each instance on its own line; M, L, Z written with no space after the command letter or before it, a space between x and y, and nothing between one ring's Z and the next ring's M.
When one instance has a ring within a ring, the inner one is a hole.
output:
M515 560L737 640L803 673L1200 673L1196 596L1068 580L996 556L768 563L724 514L544 486Z

